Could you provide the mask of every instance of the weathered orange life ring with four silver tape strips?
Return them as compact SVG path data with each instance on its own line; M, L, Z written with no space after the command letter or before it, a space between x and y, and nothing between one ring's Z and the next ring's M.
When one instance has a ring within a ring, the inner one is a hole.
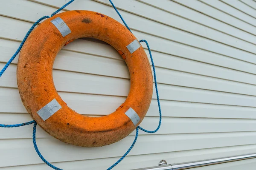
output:
M127 99L107 116L76 113L53 83L52 65L58 51L81 37L112 45L130 71ZM85 147L112 144L128 136L147 113L153 91L151 67L136 37L116 20L93 11L63 12L35 28L20 52L17 84L23 105L40 127L63 142Z

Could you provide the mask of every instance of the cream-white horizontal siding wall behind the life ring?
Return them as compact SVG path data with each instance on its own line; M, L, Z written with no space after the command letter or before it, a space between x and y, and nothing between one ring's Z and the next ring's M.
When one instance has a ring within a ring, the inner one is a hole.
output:
M150 44L163 113L160 130L139 131L134 148L113 170L157 166L161 159L172 164L256 153L256 1L112 1L137 39ZM67 2L1 1L0 69L32 24ZM122 23L108 0L75 0L63 11L67 10L97 11ZM17 58L0 78L0 124L32 120L17 89ZM53 79L67 105L89 116L115 111L130 88L122 57L110 45L88 38L59 52ZM154 91L141 126L154 130L158 116ZM131 146L134 135L95 148L66 144L39 126L36 137L42 155L59 168L105 170ZM255 166L251 159L195 170L254 170ZM51 170L34 150L32 125L0 128L0 170Z

